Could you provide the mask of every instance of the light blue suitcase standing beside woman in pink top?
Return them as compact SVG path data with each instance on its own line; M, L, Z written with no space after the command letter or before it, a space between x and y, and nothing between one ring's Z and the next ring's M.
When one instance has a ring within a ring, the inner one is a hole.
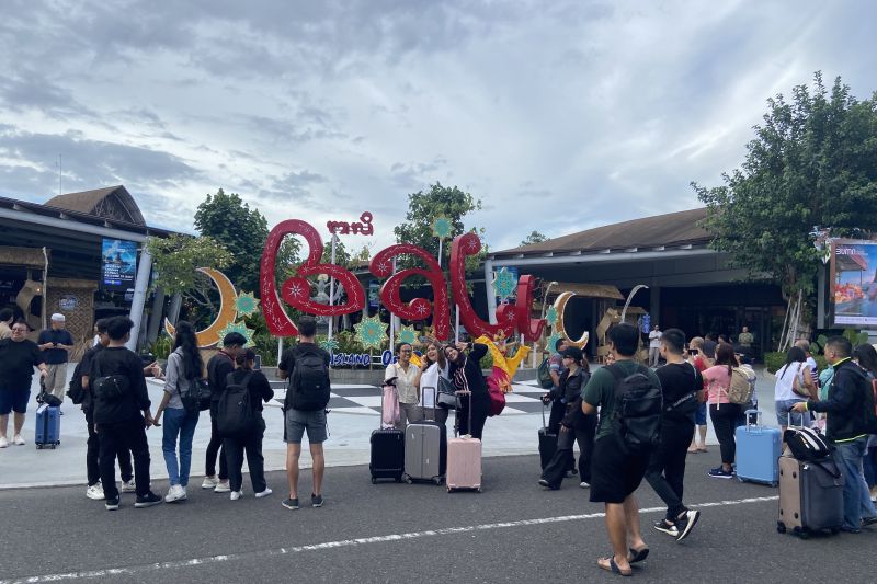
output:
M752 424L751 415L755 414L756 423ZM747 410L747 425L738 426L734 433L737 440L737 478L740 481L760 482L776 486L779 482L779 451L783 437L778 427L761 425L761 412Z

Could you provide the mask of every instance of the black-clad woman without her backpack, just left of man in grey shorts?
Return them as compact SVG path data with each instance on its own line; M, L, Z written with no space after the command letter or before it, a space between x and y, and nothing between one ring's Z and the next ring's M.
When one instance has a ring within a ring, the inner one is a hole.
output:
M264 374L253 369L255 352L252 348L241 351L235 358L235 371L228 375L226 392L237 388L246 388L250 397L251 420L249 430L235 436L225 436L223 449L228 462L228 481L231 486L231 501L243 495L243 453L247 453L247 466L250 467L250 481L257 499L272 493L265 482L265 459L262 456L262 438L265 434L265 420L262 417L262 402L274 397L274 390ZM221 398L220 398L221 399Z

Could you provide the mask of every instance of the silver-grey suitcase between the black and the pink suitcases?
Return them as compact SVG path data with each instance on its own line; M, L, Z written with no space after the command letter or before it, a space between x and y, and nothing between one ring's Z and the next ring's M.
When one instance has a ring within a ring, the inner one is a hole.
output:
M435 388L435 399L438 398ZM435 402L433 402L435 403ZM432 409L433 420L412 422L405 431L405 474L402 480L407 483L413 481L432 481L442 484L447 465L447 435L445 427L435 421L435 408Z

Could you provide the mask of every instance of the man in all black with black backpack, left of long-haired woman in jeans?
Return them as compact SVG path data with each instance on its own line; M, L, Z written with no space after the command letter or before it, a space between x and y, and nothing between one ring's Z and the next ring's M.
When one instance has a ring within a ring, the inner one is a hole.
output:
M94 425L100 440L100 469L105 506L118 508L116 455L125 448L134 455L135 507L151 507L162 499L149 490L149 444L146 428L152 425L149 393L140 358L125 347L134 327L127 317L115 317L106 325L110 344L89 368L89 388L94 393ZM143 413L141 413L143 412Z

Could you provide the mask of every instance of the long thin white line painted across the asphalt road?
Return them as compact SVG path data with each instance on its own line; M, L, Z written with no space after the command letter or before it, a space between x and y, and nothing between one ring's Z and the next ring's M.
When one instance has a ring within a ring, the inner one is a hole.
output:
M765 503L777 501L779 496L756 496L750 499L737 499L730 501L715 501L710 503L699 503L691 505L692 507L727 507L731 505L747 505L750 503ZM640 513L663 513L665 507L649 507L639 509ZM326 541L323 543L311 543L308 546L295 546L292 548L275 548L269 550L248 551L242 553L224 553L220 556L209 556L206 558L192 558L189 560L174 560L169 562L158 562L151 564L130 565L122 568L104 568L100 570L86 570L81 572L66 572L58 574L43 574L38 576L29 576L15 580L0 580L0 584L39 584L43 582L61 582L65 580L78 579L95 579L107 576L133 576L145 572L153 572L158 570L178 570L181 568L191 568L194 565L204 565L221 562L234 562L237 560L247 560L252 558L274 558L278 556L288 556L293 553L301 553L306 551L317 551L338 548L352 548L356 546L366 546L372 543L387 543L392 541L403 541L409 539L420 539L424 537L449 536L457 534L467 534L471 531L487 531L491 529L504 529L510 527L526 527L531 525L547 525L566 522L579 522L584 519L596 519L604 517L605 513L589 513L586 515L561 515L559 517L542 517L536 519L520 519L516 522L501 522L489 523L481 525L467 525L463 527L445 527L442 529L428 529L424 531L409 531L407 534L394 534L387 536L363 537L357 539L342 539L339 541Z

